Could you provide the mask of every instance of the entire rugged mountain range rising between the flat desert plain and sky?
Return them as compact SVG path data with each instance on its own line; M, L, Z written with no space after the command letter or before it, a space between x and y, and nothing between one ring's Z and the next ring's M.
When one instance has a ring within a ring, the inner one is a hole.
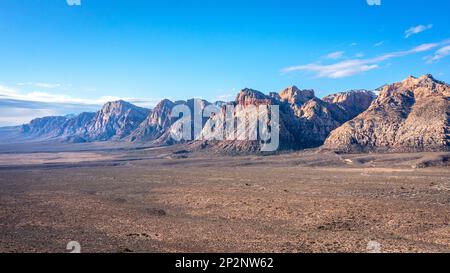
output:
M127 141L171 145L177 142L170 132L179 126L177 120L171 118L175 105L185 104L192 110L211 104L219 107L230 104L245 109L264 102L279 106L281 150L320 146L341 152L449 149L448 84L431 75L410 76L378 92L376 95L373 91L352 90L320 99L313 90L296 86L268 95L247 88L232 102L166 99L151 110L116 101L105 104L97 113L32 120L21 127L21 134L38 140L76 143ZM214 118L217 117L210 117ZM202 123L207 124L208 118ZM256 152L260 147L259 141L238 140L189 144L195 149L226 153Z

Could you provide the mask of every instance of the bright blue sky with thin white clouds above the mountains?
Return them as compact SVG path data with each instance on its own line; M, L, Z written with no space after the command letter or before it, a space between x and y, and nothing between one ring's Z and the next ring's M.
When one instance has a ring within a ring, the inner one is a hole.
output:
M450 82L448 0L77 1L0 0L0 126L117 99Z

